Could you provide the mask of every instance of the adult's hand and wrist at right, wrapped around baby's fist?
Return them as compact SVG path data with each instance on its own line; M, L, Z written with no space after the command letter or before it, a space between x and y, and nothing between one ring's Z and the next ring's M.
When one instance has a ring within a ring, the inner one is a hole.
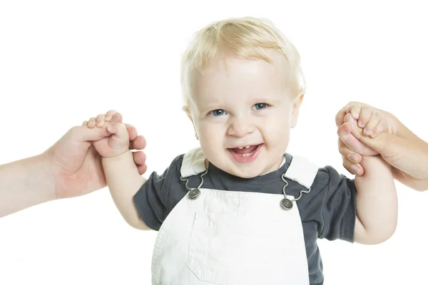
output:
M365 170L360 165L362 155L379 154L392 165L396 180L414 190L427 190L428 143L414 135L394 115L376 108L378 115L387 123L386 130L379 135L366 135L357 126L366 128L367 118L362 119L349 113L355 105L373 108L364 103L351 102L337 113L337 134L343 166L355 175L364 175Z

